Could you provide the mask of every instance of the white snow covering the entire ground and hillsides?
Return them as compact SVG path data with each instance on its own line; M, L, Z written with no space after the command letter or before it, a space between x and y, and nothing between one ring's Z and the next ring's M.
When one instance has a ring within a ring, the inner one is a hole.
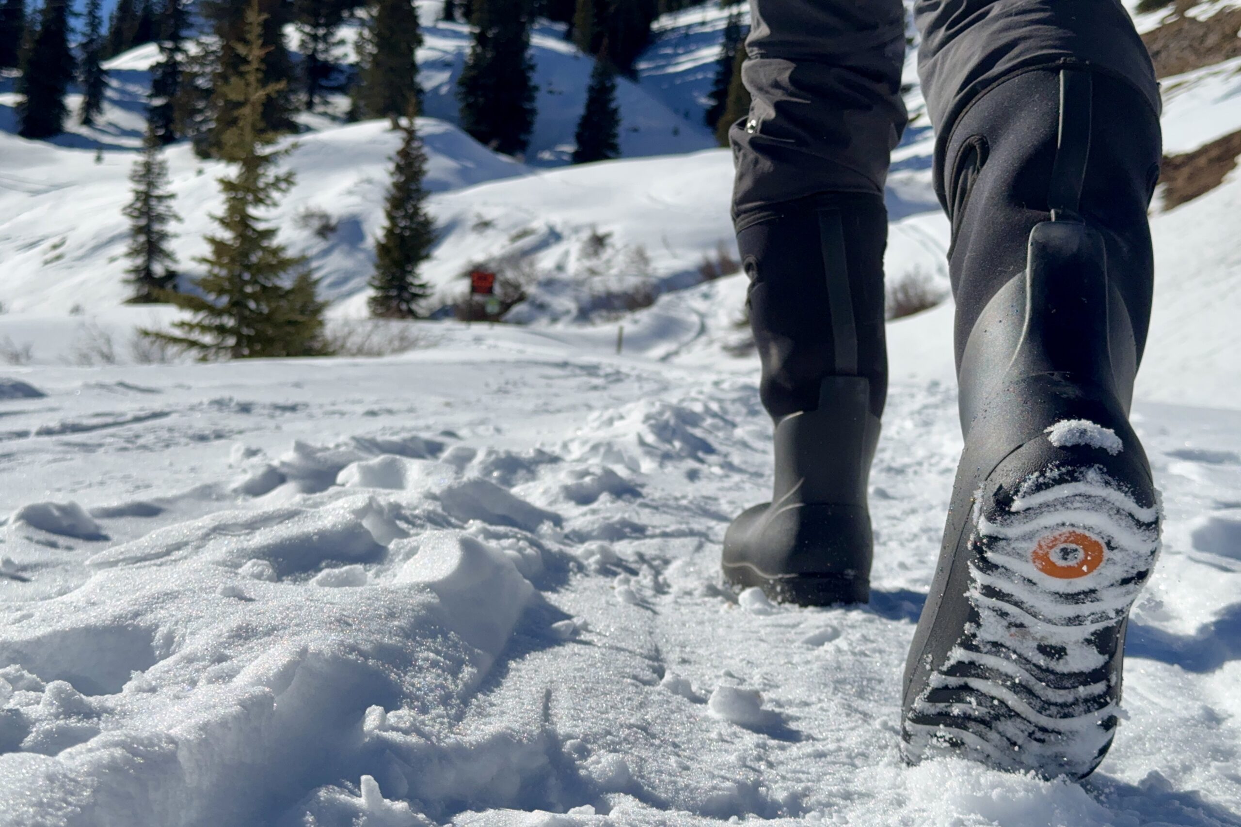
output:
M721 588L771 485L745 278L699 283L731 249L697 114L727 11L664 17L628 157L570 167L588 61L540 31L536 151L496 155L452 123L465 35L434 5L424 274L448 301L521 262L530 324L418 322L396 357L130 363L170 317L120 305L154 53L53 144L11 134L0 79L0 827L1241 827L1241 172L1153 219L1134 423L1168 523L1116 748L1083 784L907 769L900 673L961 449L951 301L889 326L871 604ZM1172 153L1241 128L1235 60L1164 91ZM397 138L305 124L274 218L341 321ZM932 140L920 117L896 154L892 283L947 280ZM221 169L168 157L192 275ZM643 284L653 306L587 312Z

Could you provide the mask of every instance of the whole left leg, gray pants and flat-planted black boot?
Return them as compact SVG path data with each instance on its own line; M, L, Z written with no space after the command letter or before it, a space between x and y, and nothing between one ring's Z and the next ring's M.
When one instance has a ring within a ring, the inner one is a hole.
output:
M731 131L773 503L730 527L724 572L803 604L864 601L866 479L887 393L884 185L905 129L900 0L751 0L750 117Z

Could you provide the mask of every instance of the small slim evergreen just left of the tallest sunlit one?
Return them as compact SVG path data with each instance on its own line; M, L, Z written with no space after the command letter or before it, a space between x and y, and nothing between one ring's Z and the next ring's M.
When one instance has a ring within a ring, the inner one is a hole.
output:
M132 262L125 273L133 286L130 304L164 301L175 289L176 255L169 248L172 233L169 224L180 221L172 210L169 192L168 161L161 153L159 135L150 128L143 144L143 154L134 162L129 181L134 185L134 197L124 210L129 219L129 249Z

